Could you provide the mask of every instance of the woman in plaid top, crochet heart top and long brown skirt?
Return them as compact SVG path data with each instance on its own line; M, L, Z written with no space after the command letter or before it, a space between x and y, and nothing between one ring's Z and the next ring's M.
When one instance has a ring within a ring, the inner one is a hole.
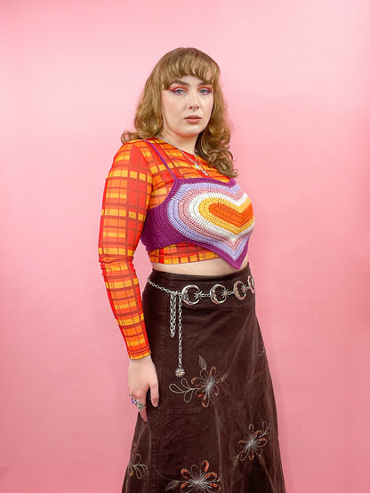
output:
M179 48L153 69L106 182L100 261L139 414L125 493L284 493L269 366L219 67ZM142 295L141 238L153 270Z

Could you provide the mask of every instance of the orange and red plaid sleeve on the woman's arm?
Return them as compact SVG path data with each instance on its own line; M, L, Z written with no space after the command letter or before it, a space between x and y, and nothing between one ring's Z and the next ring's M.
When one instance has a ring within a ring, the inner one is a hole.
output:
M101 211L99 260L110 306L131 359L150 354L141 293L133 267L152 189L148 163L133 142L115 155Z

